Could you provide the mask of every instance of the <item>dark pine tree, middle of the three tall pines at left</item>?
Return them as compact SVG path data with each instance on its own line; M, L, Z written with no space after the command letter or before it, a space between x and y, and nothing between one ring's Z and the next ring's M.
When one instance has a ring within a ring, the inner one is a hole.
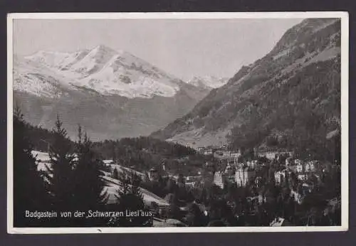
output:
M51 166L47 166L52 203L56 210L65 211L73 208L73 160L72 146L66 129L57 116L53 128L53 144L49 149Z

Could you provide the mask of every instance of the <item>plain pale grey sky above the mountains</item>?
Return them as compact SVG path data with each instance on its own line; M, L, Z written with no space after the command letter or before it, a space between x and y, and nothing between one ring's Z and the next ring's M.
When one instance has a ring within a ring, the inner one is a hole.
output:
M266 55L300 18L17 19L14 53L71 52L105 45L189 80L232 77Z

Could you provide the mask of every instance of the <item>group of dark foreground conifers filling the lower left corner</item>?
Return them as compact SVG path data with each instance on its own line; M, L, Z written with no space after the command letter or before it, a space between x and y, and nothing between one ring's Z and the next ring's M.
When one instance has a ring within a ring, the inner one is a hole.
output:
M48 144L50 161L45 171L38 171L38 161L33 156L33 144L28 132L33 127L23 120L19 108L14 110L14 226L16 227L85 227L120 226L137 224L137 221L109 223L110 218L75 218L75 211L107 211L108 191L103 181L104 169L93 143L78 127L78 141L68 139L61 120L51 131ZM144 208L139 183L122 181L122 191L117 191L116 210ZM132 203L132 200L137 203ZM138 204L138 205L137 205ZM136 205L135 208L132 205ZM26 218L29 212L57 212L56 218ZM71 217L61 217L61 212L71 212ZM142 221L141 221L142 222ZM143 223L143 222L142 222Z

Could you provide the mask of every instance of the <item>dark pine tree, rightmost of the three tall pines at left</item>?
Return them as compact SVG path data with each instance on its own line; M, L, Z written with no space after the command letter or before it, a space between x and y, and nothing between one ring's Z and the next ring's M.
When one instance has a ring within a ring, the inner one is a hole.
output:
M73 170L73 205L80 210L94 210L105 205L108 193L105 191L105 183L100 177L100 161L96 158L92 148L92 142L78 127L78 142L76 143L77 160Z

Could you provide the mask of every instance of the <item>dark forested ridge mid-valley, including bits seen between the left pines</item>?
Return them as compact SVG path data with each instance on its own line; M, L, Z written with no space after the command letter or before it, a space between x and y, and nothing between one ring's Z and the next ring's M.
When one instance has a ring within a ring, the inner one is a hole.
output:
M55 140L53 132L31 124L26 124L26 132L33 149L37 151L48 152ZM74 152L75 143L68 139L64 141L71 144L71 151ZM100 159L113 159L137 171L161 168L164 164L173 174L193 175L206 161L206 157L192 148L151 137L96 141L93 142L93 151Z

